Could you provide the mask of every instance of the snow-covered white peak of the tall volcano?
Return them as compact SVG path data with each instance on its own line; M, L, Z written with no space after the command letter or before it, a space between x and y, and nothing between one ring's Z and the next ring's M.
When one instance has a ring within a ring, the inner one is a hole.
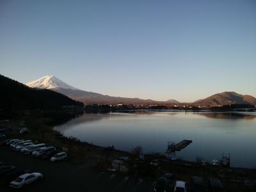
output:
M74 86L71 86L63 82L54 76L44 76L40 79L36 79L35 81L26 83L26 85L32 88L40 88L40 89L66 88L71 90L78 90L77 88L74 88Z

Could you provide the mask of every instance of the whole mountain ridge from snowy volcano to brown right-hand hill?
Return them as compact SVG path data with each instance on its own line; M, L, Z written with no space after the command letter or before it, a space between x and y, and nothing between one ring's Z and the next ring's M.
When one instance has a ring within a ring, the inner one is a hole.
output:
M113 97L109 95L102 95L100 93L87 92L79 90L71 86L57 77L45 76L30 83L27 86L34 88L46 88L55 92L67 95L71 99L78 100L84 104L179 104L180 102L175 99L166 101L157 101L152 99L139 99L127 97ZM256 106L256 98L251 95L241 95L236 92L222 92L216 93L205 99L198 99L195 102L183 102L183 104L194 104L200 106L223 106L228 104L252 104Z

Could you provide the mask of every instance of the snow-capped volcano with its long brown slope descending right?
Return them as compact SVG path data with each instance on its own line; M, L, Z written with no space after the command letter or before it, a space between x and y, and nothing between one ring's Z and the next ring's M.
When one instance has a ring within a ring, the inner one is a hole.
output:
M100 93L86 92L71 86L57 77L45 76L35 81L26 83L32 88L50 89L55 92L67 95L71 99L78 100L84 104L163 104L164 101L156 101L150 99L111 97ZM168 101L167 103L178 103L177 100Z

